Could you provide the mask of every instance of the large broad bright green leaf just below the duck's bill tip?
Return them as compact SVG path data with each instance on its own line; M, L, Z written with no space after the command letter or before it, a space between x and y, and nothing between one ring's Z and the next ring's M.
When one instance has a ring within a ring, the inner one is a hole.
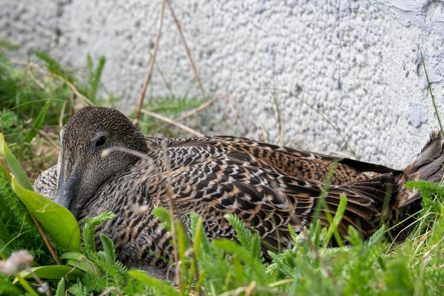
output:
M34 191L20 186L15 176L11 179L12 190L41 223L43 229L63 249L80 250L80 229L77 220L63 206L52 202Z

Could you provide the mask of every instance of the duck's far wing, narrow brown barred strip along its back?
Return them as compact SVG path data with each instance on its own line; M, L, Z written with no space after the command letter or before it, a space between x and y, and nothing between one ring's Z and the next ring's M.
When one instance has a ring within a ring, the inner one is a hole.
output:
M245 152L255 159L269 164L284 175L311 179L321 183L325 183L331 164L333 161L336 161L337 165L331 180L331 184L334 185L370 179L364 172L391 173L396 171L389 167L349 158L329 156L230 136L178 139L146 138L146 140L148 147L154 150L159 149L163 145L163 147L202 147L205 149L212 147L217 148L221 152Z

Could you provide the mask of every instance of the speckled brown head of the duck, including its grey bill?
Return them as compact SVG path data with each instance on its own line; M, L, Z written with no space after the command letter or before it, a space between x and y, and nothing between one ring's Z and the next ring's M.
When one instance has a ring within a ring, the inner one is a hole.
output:
M148 152L142 132L119 111L88 106L75 113L60 131L54 201L77 218L107 179L140 159L119 150L111 150L107 157L102 157L105 149L116 147Z

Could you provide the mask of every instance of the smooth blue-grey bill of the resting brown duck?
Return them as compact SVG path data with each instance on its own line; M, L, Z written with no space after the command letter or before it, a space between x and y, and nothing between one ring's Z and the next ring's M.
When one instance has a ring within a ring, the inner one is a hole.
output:
M57 183L57 195L54 202L60 206L64 206L77 218L79 210L75 208L75 185L77 184L78 170L75 169L74 173L64 181L65 170L61 169L59 180Z

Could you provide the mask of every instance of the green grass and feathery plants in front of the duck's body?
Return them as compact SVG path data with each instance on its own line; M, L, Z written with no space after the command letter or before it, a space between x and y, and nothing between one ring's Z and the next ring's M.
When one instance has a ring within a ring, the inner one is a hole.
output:
M5 177L2 175L1 179ZM418 220L421 223L407 241L394 248L385 239L384 227L368 241L363 241L357 230L350 228L349 245L327 248L325 242L337 230L321 228L317 223L310 230L294 234L291 249L279 254L269 251L273 261L266 263L258 236L237 217L228 215L227 219L237 231L239 244L223 239L210 241L202 231L201 220L191 214L193 243L188 241L181 224L175 225L182 262L178 288L143 272L126 269L115 260L112 242L106 236L100 236L104 251L95 251L94 226L113 217L103 214L87 222L82 248L100 274L90 269L77 282L64 285L68 295L97 295L111 287L123 295L188 295L199 287L211 295L232 295L249 289L250 295L440 295L444 278L444 189L424 181L410 186L423 194L424 210ZM9 194L13 196L11 191ZM171 229L167 210L158 209L155 214ZM20 216L12 219L19 222ZM340 214L333 218L340 219ZM6 228L11 225L14 224L9 223ZM40 252L49 257L38 239L26 245L28 248L39 245ZM193 252L186 252L188 249ZM14 289L8 279L11 278L1 276L5 284L0 286L0 293L4 291L5 295ZM58 281L52 282L53 293L58 285Z

